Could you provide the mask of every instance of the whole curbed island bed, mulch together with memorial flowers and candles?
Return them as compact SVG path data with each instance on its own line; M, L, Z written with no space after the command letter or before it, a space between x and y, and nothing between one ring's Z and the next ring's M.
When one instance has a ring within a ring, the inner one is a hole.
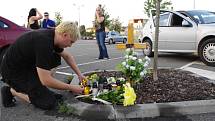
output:
M215 98L215 85L206 78L175 69L158 70L158 80L148 69L150 59L137 58L133 49L127 49L118 71L100 71L85 74L88 80L85 96L80 100L88 103L134 105L192 101ZM91 93L90 93L91 92Z

